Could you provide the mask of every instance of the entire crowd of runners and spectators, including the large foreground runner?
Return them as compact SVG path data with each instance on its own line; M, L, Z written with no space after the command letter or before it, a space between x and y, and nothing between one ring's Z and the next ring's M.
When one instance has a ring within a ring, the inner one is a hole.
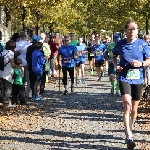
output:
M18 103L27 105L25 83L27 97L34 101L43 100L40 94L45 91L47 76L55 77L56 62L63 74L64 95L68 93L68 72L73 92L76 72L77 84L86 82L84 67L88 59L90 74L97 75L97 82L101 82L108 70L110 94L122 96L126 143L128 149L133 149L132 127L137 117L145 67L150 66L150 37L138 35L135 21L126 23L125 33L126 37L121 38L117 33L113 39L92 34L87 41L83 37L76 39L74 33L62 39L58 33L48 38L41 33L40 37L34 35L28 41L25 32L21 32L18 39L11 39L1 47L4 56L4 69L0 70L1 103L5 107Z

